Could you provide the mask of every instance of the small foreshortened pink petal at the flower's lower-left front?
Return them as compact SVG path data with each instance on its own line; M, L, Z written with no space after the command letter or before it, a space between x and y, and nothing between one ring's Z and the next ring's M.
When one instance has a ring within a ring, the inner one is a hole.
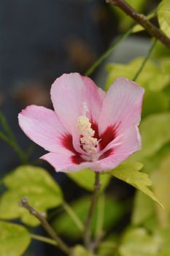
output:
M67 154L48 153L42 156L41 159L49 162L57 172L63 173L74 172L93 166L93 162L82 162L80 164L75 164L73 157L77 156L69 152L67 152Z

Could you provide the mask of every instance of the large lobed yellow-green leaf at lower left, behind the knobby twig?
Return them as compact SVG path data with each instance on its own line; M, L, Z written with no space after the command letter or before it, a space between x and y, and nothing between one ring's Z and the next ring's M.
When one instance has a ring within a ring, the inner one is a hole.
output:
M45 212L48 208L61 205L63 195L53 178L41 167L21 166L4 178L7 192L1 196L0 218L20 218L28 225L39 225L35 217L25 208L18 206L22 197L28 197L36 211Z

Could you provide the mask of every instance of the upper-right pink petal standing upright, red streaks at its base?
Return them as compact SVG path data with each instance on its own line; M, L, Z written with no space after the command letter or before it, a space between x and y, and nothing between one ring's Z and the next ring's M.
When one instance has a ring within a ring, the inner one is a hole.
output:
M99 135L112 127L112 134L107 134L107 143L128 127L139 125L143 95L144 89L126 78L117 78L110 86L98 120ZM112 138L108 138L110 135Z

